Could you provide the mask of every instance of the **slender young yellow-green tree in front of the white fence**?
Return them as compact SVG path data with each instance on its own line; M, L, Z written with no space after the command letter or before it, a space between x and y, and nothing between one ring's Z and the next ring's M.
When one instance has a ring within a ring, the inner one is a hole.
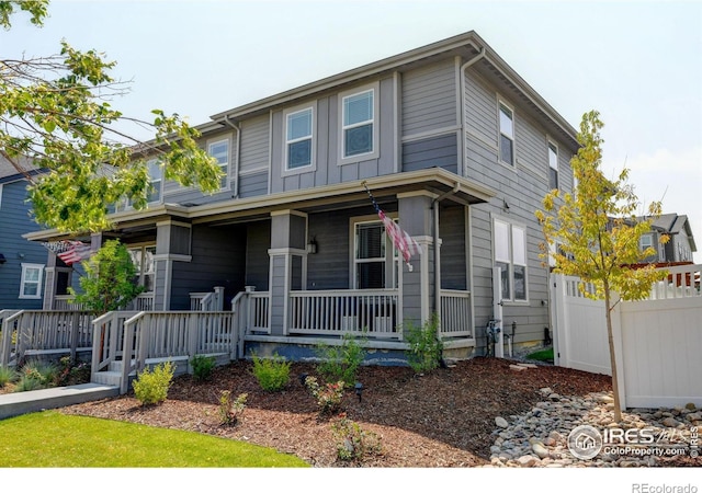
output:
M614 181L604 177L600 169L602 126L598 112L591 111L582 116L578 134L580 148L570 160L575 193L552 191L543 199L544 210L536 210L536 218L546 240L541 245L542 259L551 256L555 260L555 273L579 276L584 282L592 283L595 293L581 286L584 295L604 300L614 419L620 422L622 414L612 336L612 310L619 299L614 294L624 300L643 299L652 284L663 279L667 273L657 271L654 264L632 268L633 264L645 263L646 257L656 254L654 248L641 250L638 240L650 230L652 220L660 216L661 204L652 203L646 219L637 218L635 214L641 204L633 185L627 183L629 170L624 169Z

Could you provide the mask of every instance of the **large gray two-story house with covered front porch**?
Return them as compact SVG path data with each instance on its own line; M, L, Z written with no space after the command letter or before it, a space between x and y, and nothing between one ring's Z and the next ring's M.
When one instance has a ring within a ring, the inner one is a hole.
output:
M517 345L542 342L548 271L534 211L551 188L573 190L576 130L476 33L197 128L226 174L220 192L165 181L154 162L148 209L117 207L114 229L92 238L132 249L147 286L140 309L189 310L193 294L220 286L225 309L252 302L249 347L292 357L361 330L378 353L401 351L401 328L439 312L445 352L461 358L485 349L499 266L506 332ZM421 245L411 271L364 181ZM46 296L56 289L47 279Z

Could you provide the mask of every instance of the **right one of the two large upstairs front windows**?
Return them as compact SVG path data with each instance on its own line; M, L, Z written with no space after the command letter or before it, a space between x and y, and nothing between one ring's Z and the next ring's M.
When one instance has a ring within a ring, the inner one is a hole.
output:
M374 90L351 94L342 100L343 158L374 150Z

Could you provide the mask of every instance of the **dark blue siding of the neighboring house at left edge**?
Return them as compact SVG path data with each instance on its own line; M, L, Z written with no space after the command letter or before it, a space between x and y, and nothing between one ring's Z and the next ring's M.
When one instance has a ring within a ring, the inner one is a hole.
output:
M48 259L44 246L22 238L39 229L29 214L26 185L24 180L0 183L0 253L7 259L0 264L0 310L42 308L46 272L42 278L42 298L20 299L22 264L46 265Z

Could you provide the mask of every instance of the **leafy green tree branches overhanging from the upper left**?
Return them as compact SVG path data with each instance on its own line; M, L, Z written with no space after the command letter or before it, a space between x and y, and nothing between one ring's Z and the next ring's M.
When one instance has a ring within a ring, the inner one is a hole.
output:
M0 0L0 26L11 27L21 11L42 26L48 0ZM150 188L147 159L157 158L166 179L205 193L219 190L222 171L197 146L200 133L178 114L152 110L152 121L112 108L124 82L110 76L114 61L95 50L79 51L63 42L60 51L37 58L0 59L0 156L18 172L31 160L47 172L26 175L37 223L68 232L110 227L107 206L128 199L146 207ZM122 125L150 128L143 142Z

